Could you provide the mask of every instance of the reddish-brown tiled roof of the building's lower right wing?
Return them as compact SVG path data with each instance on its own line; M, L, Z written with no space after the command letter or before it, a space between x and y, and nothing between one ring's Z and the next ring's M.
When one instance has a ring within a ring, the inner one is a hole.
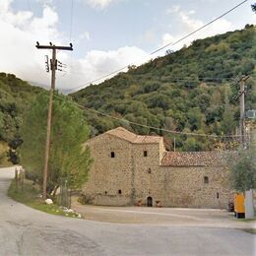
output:
M220 166L223 154L218 152L166 152L162 166Z

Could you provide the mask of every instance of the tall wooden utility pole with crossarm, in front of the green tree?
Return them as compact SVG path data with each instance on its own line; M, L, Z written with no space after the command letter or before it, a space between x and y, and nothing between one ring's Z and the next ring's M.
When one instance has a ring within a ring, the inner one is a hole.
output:
M40 45L38 41L36 41L35 47L37 49L52 50L52 58L50 60L51 87L50 87L49 108L48 108L48 117L47 117L47 133L46 133L45 157L44 157L44 169L43 169L43 181L42 181L42 198L45 200L47 197L47 176L48 176L48 160L49 160L49 150L50 150L52 101L53 101L53 94L55 90L55 79L56 79L56 70L57 70L56 50L73 50L73 45L72 43L70 43L70 46L56 46L51 42L49 43L49 45Z

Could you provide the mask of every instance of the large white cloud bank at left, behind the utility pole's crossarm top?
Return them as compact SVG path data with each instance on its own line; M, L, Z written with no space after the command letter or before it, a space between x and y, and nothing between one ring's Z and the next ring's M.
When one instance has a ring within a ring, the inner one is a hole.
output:
M50 50L38 50L35 42L65 44L67 38L58 32L59 17L52 5L43 1L41 15L14 12L11 0L0 1L0 72L42 85L50 84L50 74L44 70L44 55ZM89 32L78 36L78 41L90 39ZM69 89L91 82L128 64L139 65L147 60L145 51L135 46L116 50L92 50L84 58L75 59L70 52L59 51L57 58L68 65L67 73L57 72L56 88ZM137 61L138 60L138 61ZM65 76L63 76L65 75ZM99 83L99 82L98 82Z

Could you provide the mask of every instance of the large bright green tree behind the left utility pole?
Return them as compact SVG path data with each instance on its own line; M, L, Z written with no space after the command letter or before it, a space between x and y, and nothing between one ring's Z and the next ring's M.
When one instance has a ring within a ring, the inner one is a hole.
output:
M21 163L28 173L42 184L48 96L41 94L24 116ZM66 96L54 96L47 193L56 192L61 178L70 188L78 189L87 180L92 163L90 151L83 148L89 128L83 111Z

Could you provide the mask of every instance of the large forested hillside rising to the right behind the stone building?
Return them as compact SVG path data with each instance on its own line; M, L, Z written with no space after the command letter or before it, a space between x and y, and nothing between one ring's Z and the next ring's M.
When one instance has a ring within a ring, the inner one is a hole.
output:
M195 40L176 52L167 50L140 67L131 66L100 85L73 94L80 104L113 117L158 128L201 134L232 135L238 125L237 86L241 75L246 81L246 108L256 108L255 26L242 31ZM254 94L254 95L253 95ZM86 110L92 136L118 125L138 134L158 133L172 149L173 136L109 118ZM175 135L182 151L212 150L217 141L209 138Z

